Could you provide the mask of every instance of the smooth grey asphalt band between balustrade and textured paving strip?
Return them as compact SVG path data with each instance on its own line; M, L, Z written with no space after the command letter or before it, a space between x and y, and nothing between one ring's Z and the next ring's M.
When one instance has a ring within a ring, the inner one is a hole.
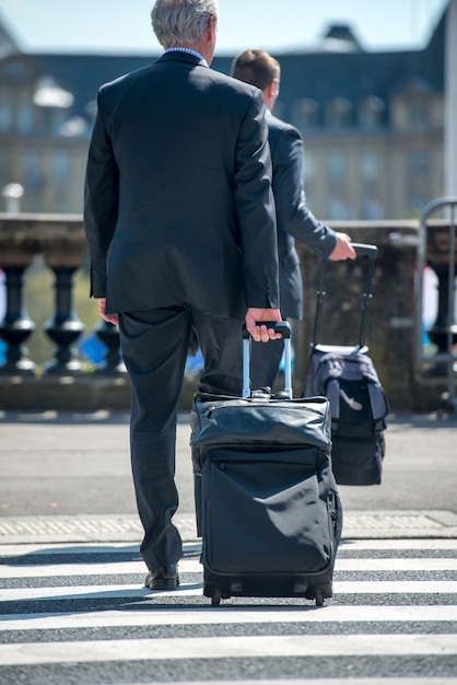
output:
M136 514L127 413L0 414L0 515ZM179 417L180 514L194 514L187 415ZM392 416L380 486L341 486L345 511L457 513L457 419Z

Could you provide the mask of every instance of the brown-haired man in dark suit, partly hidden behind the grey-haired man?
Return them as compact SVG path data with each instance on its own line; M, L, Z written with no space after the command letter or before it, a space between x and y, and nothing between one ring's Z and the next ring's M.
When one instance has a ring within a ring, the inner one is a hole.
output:
M351 240L318 221L306 206L302 183L303 141L297 129L271 114L279 94L280 65L265 50L245 50L233 62L232 76L256 85L267 108L269 143L273 164L273 195L277 208L281 314L302 317L303 286L295 239L320 257L354 259ZM253 342L250 382L253 387L273 386L284 341L267 346Z

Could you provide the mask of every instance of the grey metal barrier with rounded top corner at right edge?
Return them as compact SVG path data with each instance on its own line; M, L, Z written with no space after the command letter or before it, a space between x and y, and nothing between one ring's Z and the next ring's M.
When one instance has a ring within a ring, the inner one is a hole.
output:
M444 211L433 221L432 214ZM456 218L457 197L443 197L426 205L421 214L418 234L418 293L415 312L415 374L422 384L446 379L447 392L442 395L441 414L457 414L457 321L456 321ZM435 323L426 335L436 351L423 345L424 269L436 274L438 302Z

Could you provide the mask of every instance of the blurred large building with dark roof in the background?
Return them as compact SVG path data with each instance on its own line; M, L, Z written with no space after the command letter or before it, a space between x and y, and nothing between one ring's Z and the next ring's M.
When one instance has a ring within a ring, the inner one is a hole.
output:
M445 25L446 12L421 50L365 51L332 26L319 49L274 55L276 114L303 135L321 219L413 218L443 195ZM157 56L25 54L0 19L0 189L21 184L22 211L80 213L97 89Z

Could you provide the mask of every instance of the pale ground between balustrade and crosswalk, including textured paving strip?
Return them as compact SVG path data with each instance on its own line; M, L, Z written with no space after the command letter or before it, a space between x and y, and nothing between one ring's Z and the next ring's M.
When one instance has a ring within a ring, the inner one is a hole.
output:
M139 542L127 413L0 413L0 544ZM188 416L176 515L196 542ZM391 416L383 484L340 487L343 537L457 537L457 420Z

